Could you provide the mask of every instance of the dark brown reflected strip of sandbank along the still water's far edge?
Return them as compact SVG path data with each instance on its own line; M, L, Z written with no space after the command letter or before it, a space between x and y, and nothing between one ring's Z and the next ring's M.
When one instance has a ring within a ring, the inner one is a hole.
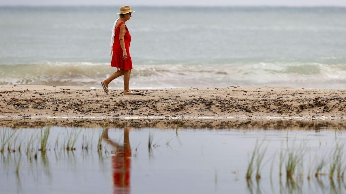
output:
M0 119L0 127L42 128L46 126L88 128L160 128L160 129L277 129L277 130L342 130L340 120L298 119Z

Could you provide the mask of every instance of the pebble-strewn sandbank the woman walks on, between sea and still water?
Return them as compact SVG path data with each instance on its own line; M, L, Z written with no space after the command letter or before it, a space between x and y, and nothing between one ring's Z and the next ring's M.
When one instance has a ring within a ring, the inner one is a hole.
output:
M0 116L10 117L291 117L343 120L346 90L289 87L120 89L0 85Z

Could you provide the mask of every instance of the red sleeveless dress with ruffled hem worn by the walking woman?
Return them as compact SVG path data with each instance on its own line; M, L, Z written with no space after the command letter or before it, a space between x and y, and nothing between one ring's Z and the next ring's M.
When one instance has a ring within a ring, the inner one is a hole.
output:
M113 43L113 56L112 56L112 61L110 63L111 67L117 67L120 69L124 69L124 70L129 70L132 69L132 60L130 57L130 42L131 42L131 35L129 30L127 29L126 25L125 25L125 29L126 29L126 33L124 36L124 42L125 42L125 49L126 49L126 53L127 53L127 58L124 60L122 59L122 49L120 46L120 41L119 41L119 34L120 34L120 26L121 24L123 24L124 22L120 22L118 27L115 29L115 37L114 37L114 43ZM125 24L125 23L124 23Z

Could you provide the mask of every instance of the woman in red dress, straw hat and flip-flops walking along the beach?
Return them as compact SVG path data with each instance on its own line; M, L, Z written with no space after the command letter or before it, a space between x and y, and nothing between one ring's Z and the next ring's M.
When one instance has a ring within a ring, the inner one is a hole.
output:
M132 60L130 57L130 42L131 35L125 25L125 22L130 20L131 13L130 6L122 6L120 8L119 18L115 21L112 38L110 44L110 55L112 61L110 66L116 67L117 71L114 72L109 78L101 81L103 90L108 94L108 84L115 78L124 75L124 94L132 94L129 89L130 74L132 69Z

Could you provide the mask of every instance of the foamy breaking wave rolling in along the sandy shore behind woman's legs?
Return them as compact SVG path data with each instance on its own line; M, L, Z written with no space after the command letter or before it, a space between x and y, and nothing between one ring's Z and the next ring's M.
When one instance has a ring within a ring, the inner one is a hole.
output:
M60 85L100 88L116 69L109 63L47 62L0 65L0 84ZM223 65L135 65L131 88L223 86L346 88L346 64L317 62L231 62ZM110 88L122 88L122 78Z

